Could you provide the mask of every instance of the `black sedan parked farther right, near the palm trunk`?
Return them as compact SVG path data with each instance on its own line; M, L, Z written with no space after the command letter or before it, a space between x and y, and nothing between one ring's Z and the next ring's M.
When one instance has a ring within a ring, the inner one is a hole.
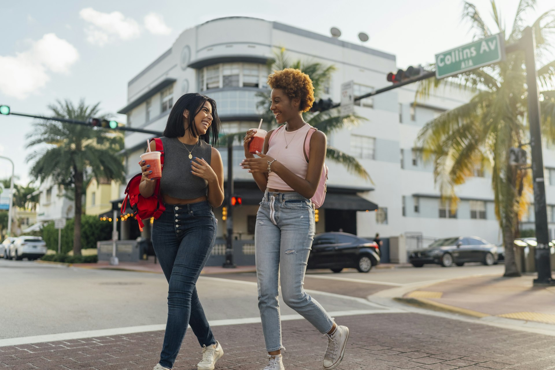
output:
M497 246L477 236L455 236L438 239L426 249L412 252L412 266L437 263L443 267L462 266L466 262L482 262L490 266L497 262Z

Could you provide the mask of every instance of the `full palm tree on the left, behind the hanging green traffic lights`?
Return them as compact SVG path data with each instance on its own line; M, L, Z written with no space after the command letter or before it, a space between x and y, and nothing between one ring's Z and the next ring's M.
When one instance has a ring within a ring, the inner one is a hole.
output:
M48 108L55 117L84 121L99 116L99 104L88 106L80 100L74 105L69 100L58 100ZM97 179L124 179L122 159L116 155L123 147L123 138L114 131L51 120L36 123L27 138L30 139L27 148L41 145L27 158L34 160L31 175L41 182L52 177L75 200L73 254L80 255L83 184L89 175Z

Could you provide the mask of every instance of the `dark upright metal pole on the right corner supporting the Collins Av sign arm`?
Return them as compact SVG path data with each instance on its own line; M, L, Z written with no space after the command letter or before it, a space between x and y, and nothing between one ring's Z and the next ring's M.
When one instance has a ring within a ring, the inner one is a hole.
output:
M532 178L534 182L534 214L536 215L536 271L538 278L534 286L554 285L551 278L551 248L547 229L546 187L543 178L542 134L539 123L539 96L536 72L536 39L531 27L524 28L520 40L526 63L528 85L528 120L532 152Z

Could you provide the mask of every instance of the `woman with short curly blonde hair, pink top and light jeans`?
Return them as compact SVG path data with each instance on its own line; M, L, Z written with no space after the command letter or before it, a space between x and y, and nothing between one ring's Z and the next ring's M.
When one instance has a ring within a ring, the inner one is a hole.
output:
M310 199L324 168L326 135L302 119L302 113L314 103L314 87L308 75L286 68L274 71L268 84L272 88L270 109L281 126L266 135L264 153L257 153L258 158L249 153L255 133L249 130L244 139L246 159L242 163L264 191L255 229L258 307L269 357L264 370L284 369L278 280L286 305L327 336L324 368L331 370L343 358L349 328L337 326L302 287L315 231ZM309 156L305 140L310 140Z

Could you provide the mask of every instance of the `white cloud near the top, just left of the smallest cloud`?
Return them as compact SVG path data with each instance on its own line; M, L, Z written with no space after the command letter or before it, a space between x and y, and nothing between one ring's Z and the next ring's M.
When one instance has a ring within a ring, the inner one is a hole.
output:
M87 41L102 46L115 38L129 40L140 35L139 24L132 18L125 18L120 12L102 13L93 8L84 8L79 16L88 22L85 28Z

